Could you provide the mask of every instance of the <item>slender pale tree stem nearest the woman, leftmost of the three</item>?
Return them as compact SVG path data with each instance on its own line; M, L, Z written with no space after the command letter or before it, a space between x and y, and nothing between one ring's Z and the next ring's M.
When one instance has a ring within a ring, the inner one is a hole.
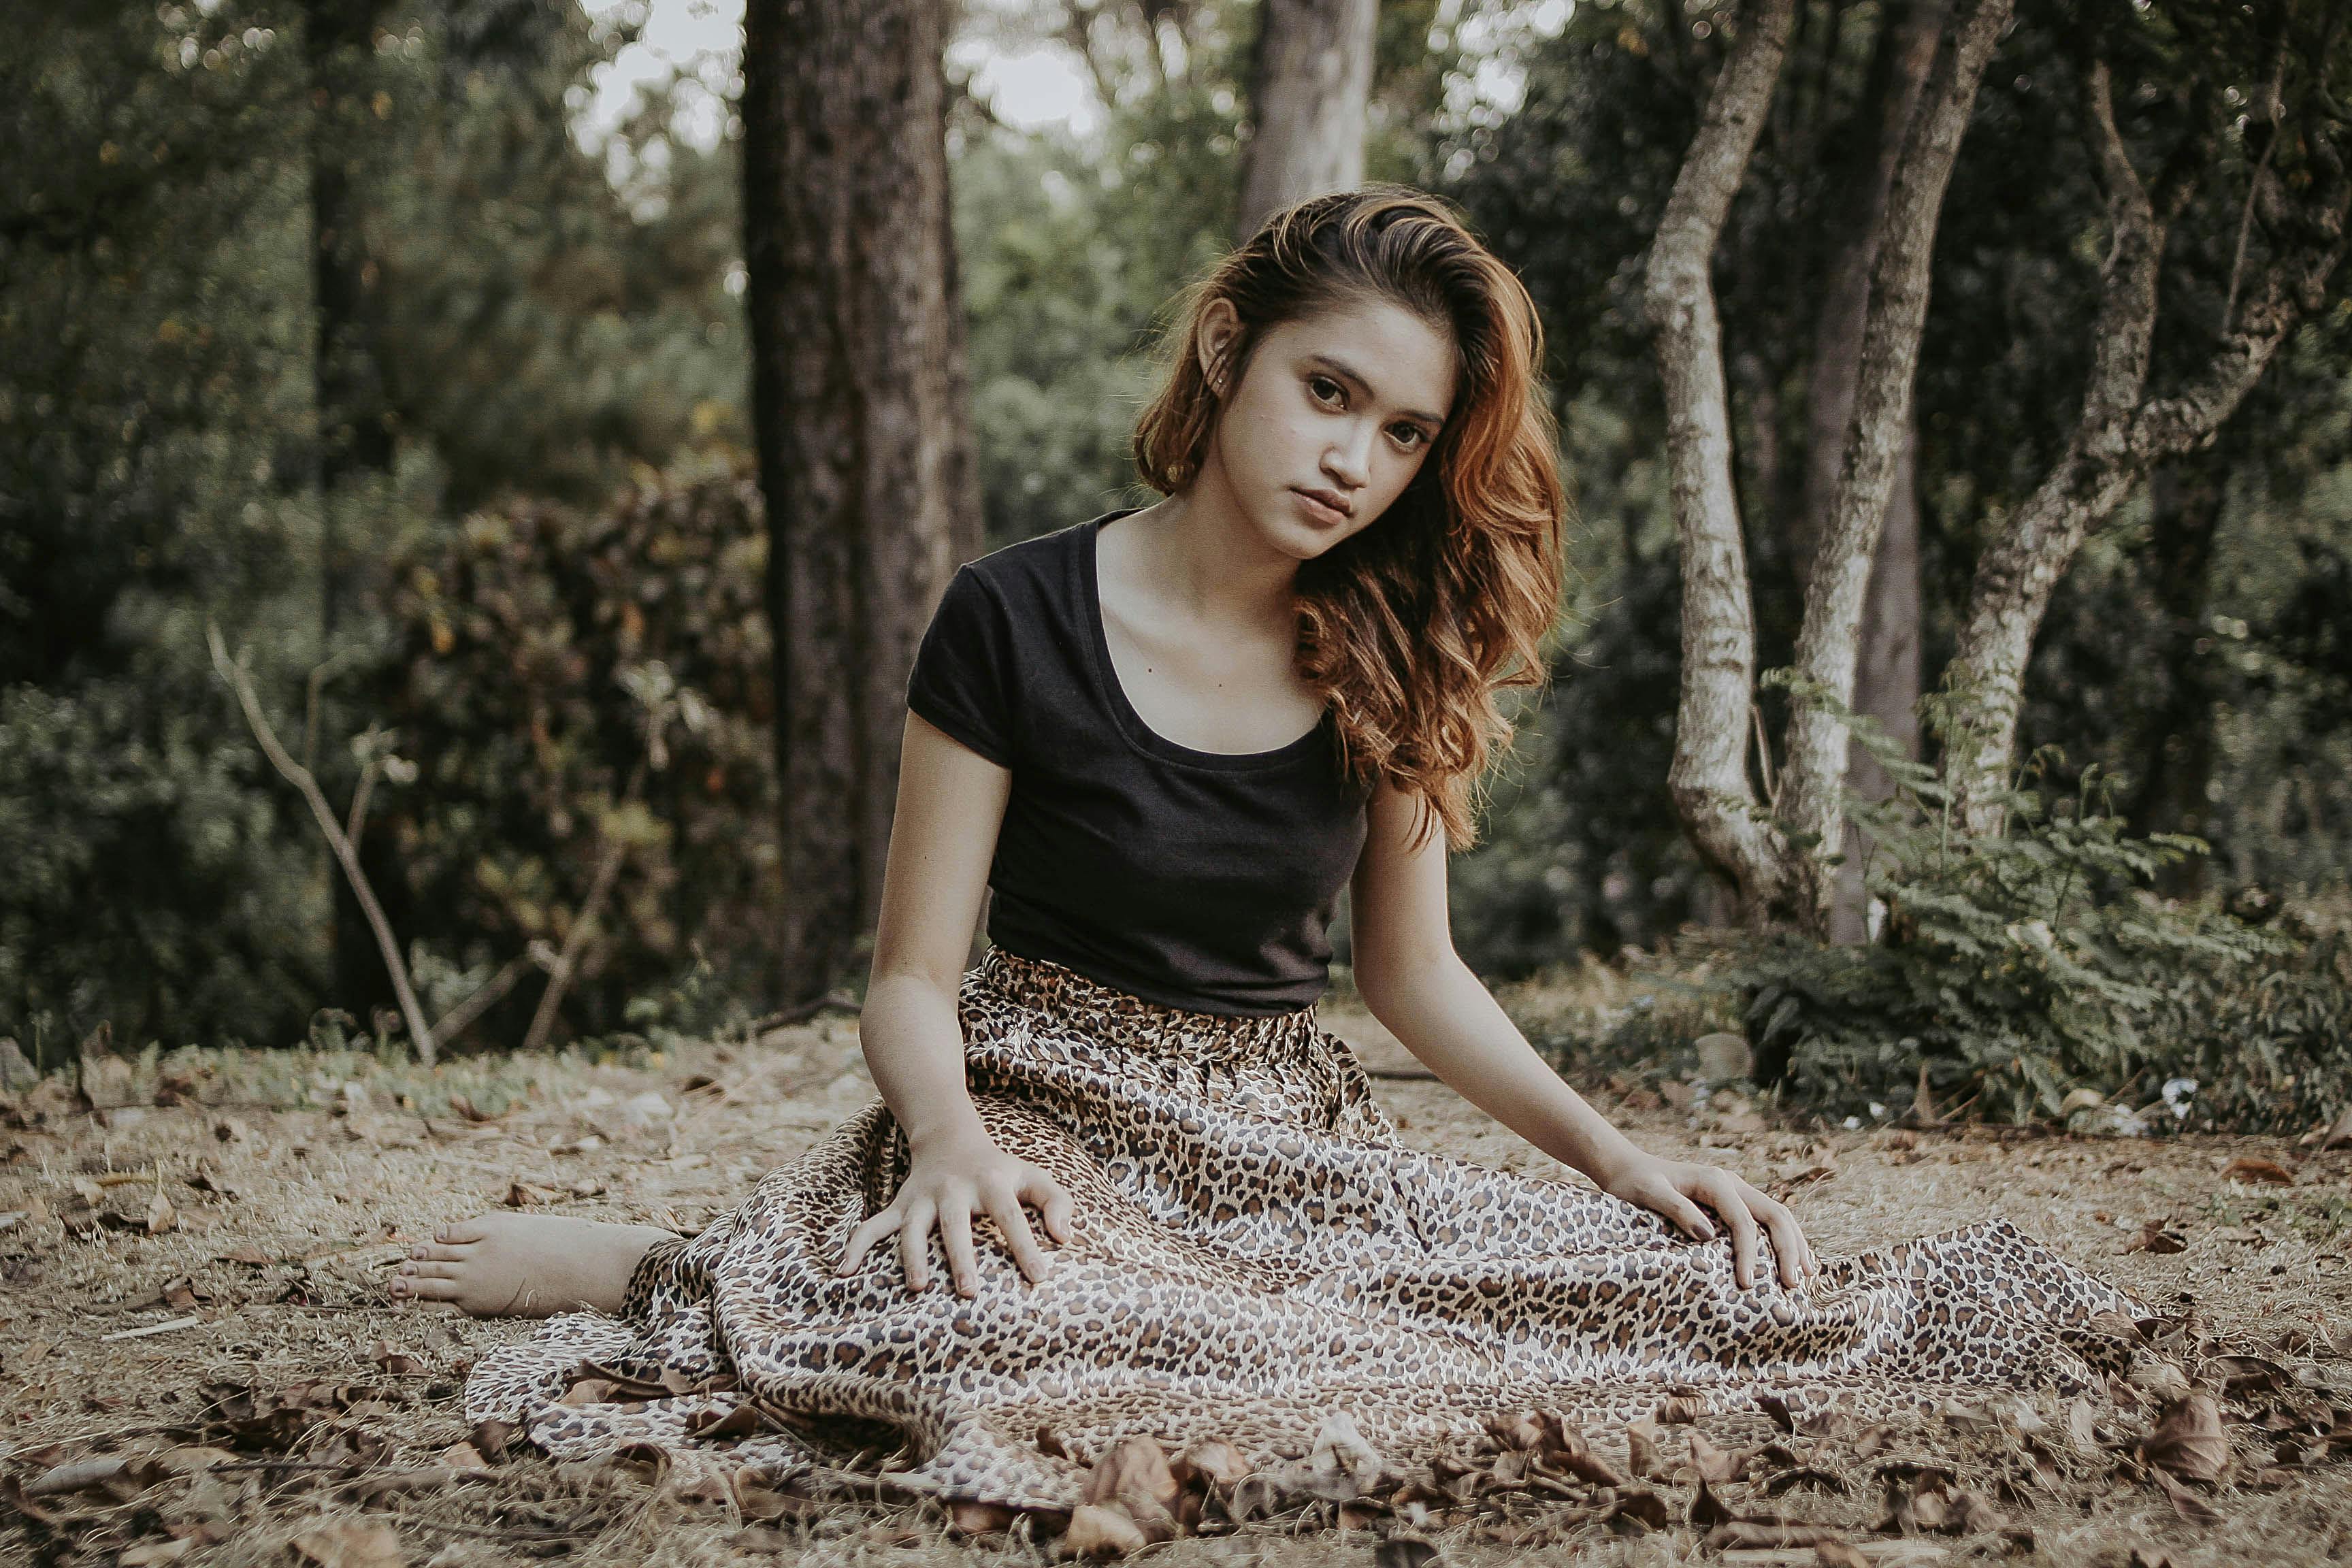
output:
M1788 889L1788 846L1748 780L1755 611L1731 484L1722 322L1710 275L1731 197L1771 108L1795 0L1752 0L1684 153L1649 249L1644 308L1658 329L1665 447L1682 543L1682 696L1668 790L1700 858L1729 877L1743 919L1769 919Z

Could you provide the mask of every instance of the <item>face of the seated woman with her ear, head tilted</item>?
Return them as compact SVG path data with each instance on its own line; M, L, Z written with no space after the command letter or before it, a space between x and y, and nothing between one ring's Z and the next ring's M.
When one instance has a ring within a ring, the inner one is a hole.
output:
M1228 301L1204 320L1216 388L1240 336ZM1404 494L1454 411L1454 334L1388 299L1268 329L1240 383L1225 374L1209 465L1258 534L1315 559ZM1204 475L1209 477L1209 475Z

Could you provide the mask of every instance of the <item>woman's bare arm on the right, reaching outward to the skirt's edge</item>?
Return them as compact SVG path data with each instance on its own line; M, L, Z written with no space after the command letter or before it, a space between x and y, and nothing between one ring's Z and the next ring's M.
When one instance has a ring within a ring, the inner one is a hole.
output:
M1764 1220L1780 1279L1795 1288L1813 1253L1785 1206L1731 1171L1646 1154L1536 1056L1454 952L1444 832L1432 830L1414 849L1414 818L1416 802L1383 783L1350 893L1355 983L1371 1013L1461 1098L1576 1166L1602 1192L1656 1208L1700 1239L1715 1234L1698 1208L1705 1201L1731 1227L1743 1288L1752 1281L1757 1220Z

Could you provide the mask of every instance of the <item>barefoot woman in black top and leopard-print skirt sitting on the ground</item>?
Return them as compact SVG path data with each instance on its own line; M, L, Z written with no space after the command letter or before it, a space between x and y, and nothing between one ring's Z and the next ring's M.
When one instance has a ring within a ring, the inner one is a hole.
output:
M917 654L882 1100L691 1241L506 1215L419 1248L405 1298L590 1309L487 1356L468 1413L788 1474L882 1422L906 1488L1068 1507L1134 1434L1272 1462L1343 1410L1402 1462L1670 1385L2086 1382L2124 1295L2006 1225L1818 1265L1783 1204L1609 1126L1454 954L1446 851L1562 564L1510 270L1423 195L1317 197L1176 341L1136 437L1162 501L964 567ZM1371 1011L1592 1187L1397 1140L1315 1023L1343 884ZM583 1361L607 1382L557 1403Z

